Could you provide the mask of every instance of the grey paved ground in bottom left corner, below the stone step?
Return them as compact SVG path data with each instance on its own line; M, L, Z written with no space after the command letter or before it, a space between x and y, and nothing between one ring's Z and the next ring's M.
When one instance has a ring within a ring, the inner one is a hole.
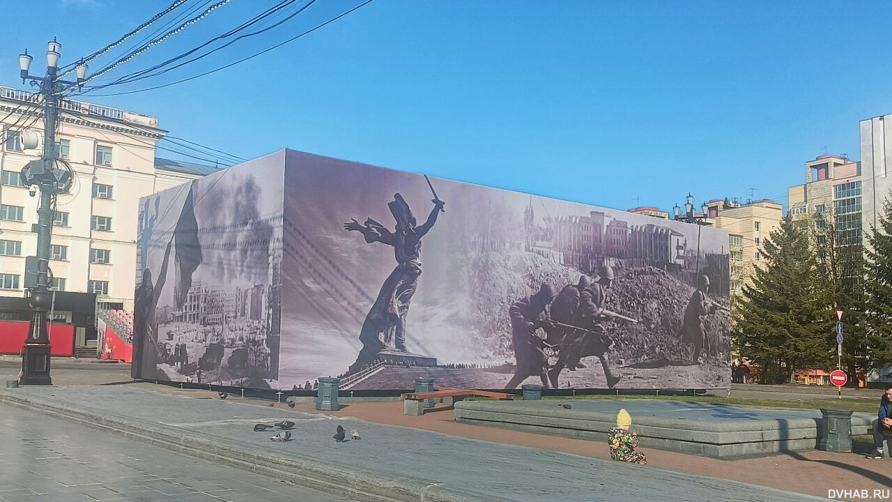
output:
M352 499L294 487L29 410L0 405L0 502L100 500L343 502Z

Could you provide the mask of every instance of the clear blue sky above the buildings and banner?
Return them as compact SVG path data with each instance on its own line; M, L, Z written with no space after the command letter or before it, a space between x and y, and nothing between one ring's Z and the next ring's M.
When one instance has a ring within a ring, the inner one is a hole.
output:
M4 4L0 84L21 87L26 46L32 70L54 36L71 63L171 1ZM108 76L270 4L233 0ZM182 71L95 94L210 70L357 4L319 1ZM43 11L55 17L34 14ZM157 116L175 136L244 158L290 147L619 209L640 197L671 210L689 191L698 204L747 198L750 188L786 204L806 161L824 146L858 159L858 121L892 112L890 14L888 2L375 0L211 76L79 99Z

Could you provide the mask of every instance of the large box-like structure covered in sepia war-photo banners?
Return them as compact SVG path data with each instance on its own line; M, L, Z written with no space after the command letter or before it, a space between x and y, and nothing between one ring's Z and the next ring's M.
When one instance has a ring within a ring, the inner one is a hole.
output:
M730 382L723 230L293 150L139 205L136 378Z

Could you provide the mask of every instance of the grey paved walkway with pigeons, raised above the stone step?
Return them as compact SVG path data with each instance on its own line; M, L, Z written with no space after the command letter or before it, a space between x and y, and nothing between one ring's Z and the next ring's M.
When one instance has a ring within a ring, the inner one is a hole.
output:
M805 501L737 481L538 448L131 386L0 389L4 405L58 414L193 456L361 499L562 502L650 498ZM287 443L254 423L291 420ZM338 423L362 439L331 436Z

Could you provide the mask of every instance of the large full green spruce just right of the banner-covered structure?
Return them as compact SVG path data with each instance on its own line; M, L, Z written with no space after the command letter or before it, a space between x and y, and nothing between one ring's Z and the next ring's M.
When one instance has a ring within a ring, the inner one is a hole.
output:
M797 368L830 364L834 289L805 227L788 216L764 239L764 262L732 309L734 348L762 368L763 382L794 381Z

